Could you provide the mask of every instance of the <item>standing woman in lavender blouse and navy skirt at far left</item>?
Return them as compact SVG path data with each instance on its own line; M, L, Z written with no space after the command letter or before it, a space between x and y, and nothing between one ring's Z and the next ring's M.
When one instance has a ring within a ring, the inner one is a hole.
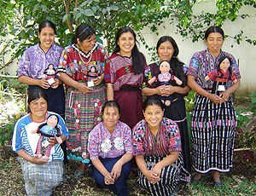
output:
M48 111L56 112L64 118L65 94L61 80L55 77L55 83L49 84L43 77L50 64L55 70L59 65L63 49L54 44L55 33L55 24L52 21L44 20L39 24L40 43L26 49L18 63L17 72L19 82L29 85L29 92L38 88L44 90L49 97ZM64 163L67 164L66 141L61 144L61 148L65 153Z

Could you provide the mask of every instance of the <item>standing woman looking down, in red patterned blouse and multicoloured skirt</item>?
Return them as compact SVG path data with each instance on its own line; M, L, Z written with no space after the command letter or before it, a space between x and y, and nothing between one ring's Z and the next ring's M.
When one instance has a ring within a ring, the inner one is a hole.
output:
M68 156L81 164L74 178L84 175L89 163L87 151L90 130L101 120L101 106L107 100L104 84L104 66L108 51L96 43L96 31L87 24L78 26L72 44L64 49L59 66L61 80L67 84L65 116L70 137ZM88 79L86 73L94 66L100 73Z

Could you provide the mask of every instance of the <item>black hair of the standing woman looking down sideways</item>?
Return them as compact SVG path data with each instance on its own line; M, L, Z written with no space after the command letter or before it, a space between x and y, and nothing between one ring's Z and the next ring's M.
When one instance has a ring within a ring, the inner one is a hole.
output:
M93 35L96 34L94 28L88 24L81 24L77 27L75 34L72 37L72 43L78 43L77 39L79 38L80 42L83 42L85 39L90 39Z

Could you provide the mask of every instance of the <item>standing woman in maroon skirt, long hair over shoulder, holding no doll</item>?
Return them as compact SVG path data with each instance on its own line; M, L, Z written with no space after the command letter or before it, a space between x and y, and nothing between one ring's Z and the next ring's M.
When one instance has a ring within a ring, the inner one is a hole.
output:
M133 128L143 119L143 71L145 57L137 49L136 34L128 26L119 29L115 48L105 67L108 101L117 101L121 107L120 121Z

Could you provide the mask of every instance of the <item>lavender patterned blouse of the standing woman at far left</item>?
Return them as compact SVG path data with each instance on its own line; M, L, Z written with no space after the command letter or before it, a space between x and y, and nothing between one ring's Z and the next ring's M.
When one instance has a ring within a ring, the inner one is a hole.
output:
M47 53L40 48L39 44L26 49L21 56L17 66L18 76L28 76L30 78L42 78L44 70L53 64L57 69L61 57L61 47L52 44Z

